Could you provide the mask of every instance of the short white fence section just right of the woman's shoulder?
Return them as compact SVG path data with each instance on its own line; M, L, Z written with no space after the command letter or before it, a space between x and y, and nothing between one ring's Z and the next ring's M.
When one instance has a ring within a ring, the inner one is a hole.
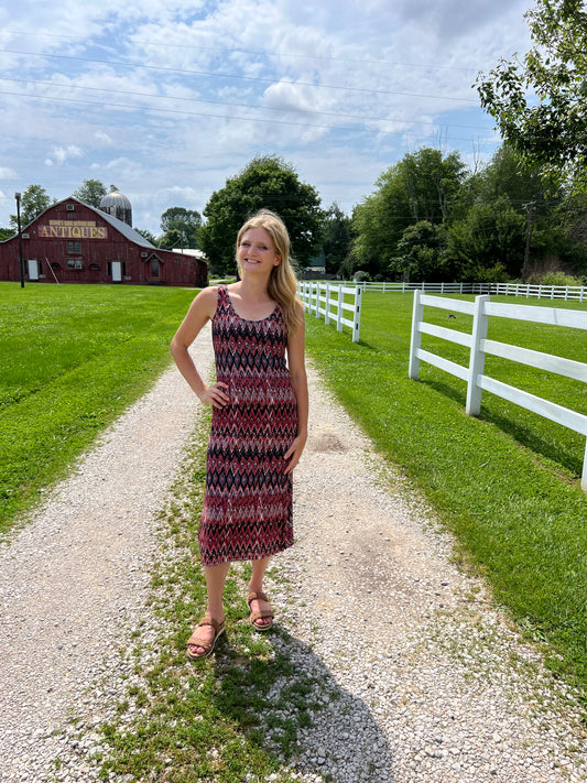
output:
M300 281L297 283L297 294L306 305L309 313L316 318L324 315L324 323L336 322L338 331L343 331L343 326L352 329L352 341L358 342L361 327L361 300L362 289L360 285L344 285L339 283L322 283L314 281ZM352 302L345 300L351 297ZM345 313L351 315L345 317Z

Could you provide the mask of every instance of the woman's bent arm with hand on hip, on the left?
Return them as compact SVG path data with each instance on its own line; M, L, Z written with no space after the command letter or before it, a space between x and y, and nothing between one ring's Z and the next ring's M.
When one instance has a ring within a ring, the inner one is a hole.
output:
M197 371L188 350L206 325L206 322L211 320L214 317L217 302L218 289L204 289L199 292L171 341L171 352L180 372L202 402L209 403L214 407L224 407L228 402L228 396L222 392L222 388L228 389L227 384L215 383L211 387L207 387Z

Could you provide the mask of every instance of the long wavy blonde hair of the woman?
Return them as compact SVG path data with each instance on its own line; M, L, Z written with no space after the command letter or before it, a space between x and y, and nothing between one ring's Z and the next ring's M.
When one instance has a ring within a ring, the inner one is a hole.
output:
M302 303L297 298L297 278L290 258L287 228L280 216L270 209L261 209L257 215L249 218L237 235L237 267L239 274L242 274L242 269L238 260L238 249L243 233L250 228L264 228L275 246L275 251L281 255L281 263L271 270L268 293L281 308L287 334L293 335L304 323L304 316Z

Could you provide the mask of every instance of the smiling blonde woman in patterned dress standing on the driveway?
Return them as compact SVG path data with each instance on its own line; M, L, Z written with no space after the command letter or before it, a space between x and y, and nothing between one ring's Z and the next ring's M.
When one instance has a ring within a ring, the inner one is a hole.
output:
M240 280L202 291L172 341L180 371L213 406L198 533L208 607L188 641L193 660L210 655L225 630L232 561L252 562L250 621L259 631L271 628L263 577L270 557L293 544L292 472L307 438L303 305L281 218L261 210L244 222L237 264ZM208 319L217 377L210 387L188 352Z

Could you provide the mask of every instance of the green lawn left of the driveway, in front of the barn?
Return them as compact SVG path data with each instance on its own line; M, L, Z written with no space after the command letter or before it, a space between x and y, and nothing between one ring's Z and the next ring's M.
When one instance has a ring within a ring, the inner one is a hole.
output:
M0 283L0 533L149 389L194 295Z

